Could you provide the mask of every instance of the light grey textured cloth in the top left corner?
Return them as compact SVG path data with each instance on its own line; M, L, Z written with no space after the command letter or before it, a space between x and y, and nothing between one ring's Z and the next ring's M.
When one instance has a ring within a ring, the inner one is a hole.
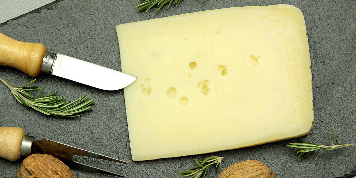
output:
M0 23L26 14L54 0L0 0Z

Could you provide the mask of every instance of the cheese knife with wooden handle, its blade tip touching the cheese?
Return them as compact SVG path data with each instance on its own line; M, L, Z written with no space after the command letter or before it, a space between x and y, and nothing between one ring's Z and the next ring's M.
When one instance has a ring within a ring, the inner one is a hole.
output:
M42 43L17 41L2 33L0 65L14 67L32 77L52 74L103 90L119 90L136 80L133 75L48 52Z

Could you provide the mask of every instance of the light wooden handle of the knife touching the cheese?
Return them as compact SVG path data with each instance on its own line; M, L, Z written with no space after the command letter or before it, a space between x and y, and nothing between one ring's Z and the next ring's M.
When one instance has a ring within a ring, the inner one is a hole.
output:
M10 66L36 77L41 73L47 48L42 43L17 41L0 33L0 65Z

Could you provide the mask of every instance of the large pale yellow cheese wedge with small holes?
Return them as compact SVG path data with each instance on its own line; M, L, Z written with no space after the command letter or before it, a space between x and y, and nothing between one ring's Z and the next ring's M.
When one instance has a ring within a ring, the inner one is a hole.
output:
M312 74L302 12L232 7L116 26L132 159L306 135ZM120 80L120 79L118 79Z

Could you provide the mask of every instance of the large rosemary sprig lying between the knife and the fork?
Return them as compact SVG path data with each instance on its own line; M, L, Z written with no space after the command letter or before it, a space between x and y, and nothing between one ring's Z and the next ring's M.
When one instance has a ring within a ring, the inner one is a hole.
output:
M87 95L84 95L82 98L76 99L72 102L64 102L67 100L65 99L66 97L58 98L58 96L54 96L57 91L49 95L39 97L45 88L45 85L43 85L40 93L38 93L36 97L33 97L27 91L38 90L38 87L26 86L30 85L32 82L35 82L35 80L32 80L30 83L21 87L12 87L0 77L0 81L11 90L11 93L14 95L15 99L19 101L19 103L23 104L27 110L33 108L43 114L53 115L55 117L76 117L82 115L78 113L92 109L91 105L94 104L94 99L84 102L84 100L88 98Z

